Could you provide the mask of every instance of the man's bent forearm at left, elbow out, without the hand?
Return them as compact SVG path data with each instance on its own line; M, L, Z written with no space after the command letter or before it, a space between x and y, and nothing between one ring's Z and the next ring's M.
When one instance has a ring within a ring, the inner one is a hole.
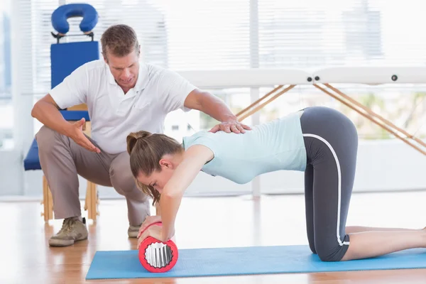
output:
M70 133L68 133L70 123L63 118L60 111L53 104L43 101L37 102L31 111L31 116L50 129L58 131L58 133L65 136L70 136Z

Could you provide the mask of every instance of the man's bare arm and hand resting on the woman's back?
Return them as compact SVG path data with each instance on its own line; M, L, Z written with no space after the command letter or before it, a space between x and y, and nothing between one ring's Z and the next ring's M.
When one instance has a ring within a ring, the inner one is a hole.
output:
M249 126L241 124L237 117L232 114L231 109L218 97L210 94L209 92L203 92L200 89L194 89L188 94L185 99L185 107L188 109L197 109L212 116L217 121L221 121L222 124L214 126L210 131L217 132L219 130L226 132L244 133L246 130L250 130Z

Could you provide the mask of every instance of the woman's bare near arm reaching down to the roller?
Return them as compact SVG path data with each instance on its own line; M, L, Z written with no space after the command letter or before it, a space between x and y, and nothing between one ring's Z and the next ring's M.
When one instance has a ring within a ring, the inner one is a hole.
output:
M182 162L163 188L160 197L161 221L163 229L160 241L168 241L175 234L175 219L178 214L180 200L191 182L197 177L202 166L214 157L213 152L202 145L194 145L187 149Z

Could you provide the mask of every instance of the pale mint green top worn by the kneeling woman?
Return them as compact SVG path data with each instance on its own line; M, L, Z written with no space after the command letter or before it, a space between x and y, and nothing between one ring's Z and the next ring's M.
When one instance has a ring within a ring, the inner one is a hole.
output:
M204 173L238 184L250 182L263 173L306 168L298 113L253 126L246 133L199 131L182 138L185 150L197 144L207 146L214 153L214 158L202 167Z

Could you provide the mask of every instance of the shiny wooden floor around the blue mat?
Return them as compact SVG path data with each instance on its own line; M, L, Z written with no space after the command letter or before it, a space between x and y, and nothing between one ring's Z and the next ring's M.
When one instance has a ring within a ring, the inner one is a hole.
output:
M426 192L356 194L348 225L426 226ZM89 239L50 248L62 224L45 224L38 202L0 203L0 283L425 283L426 270L360 271L233 277L84 280L97 250L136 249L127 237L126 202L102 200ZM179 249L307 244L302 195L185 198L177 221Z

